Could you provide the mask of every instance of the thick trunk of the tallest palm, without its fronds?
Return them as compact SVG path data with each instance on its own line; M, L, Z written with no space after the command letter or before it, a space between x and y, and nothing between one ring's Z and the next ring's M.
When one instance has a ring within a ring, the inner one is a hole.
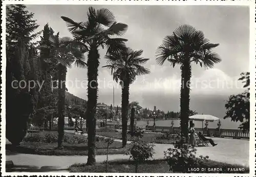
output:
M96 142L96 105L98 92L98 67L99 53L96 45L92 45L88 54L88 107L87 107L87 122L88 122L88 160L87 165L94 165L95 159L95 142Z

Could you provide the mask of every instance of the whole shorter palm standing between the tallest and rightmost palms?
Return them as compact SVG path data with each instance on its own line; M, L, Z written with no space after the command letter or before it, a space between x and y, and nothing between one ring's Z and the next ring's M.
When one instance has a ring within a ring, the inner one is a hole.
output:
M144 68L149 59L142 58L142 50L133 51L131 48L125 48L119 52L112 52L106 55L106 63L104 67L111 69L113 78L122 86L122 145L127 143L127 111L129 108L129 86L135 80L136 76L149 74L150 70ZM114 71L114 73L113 73Z

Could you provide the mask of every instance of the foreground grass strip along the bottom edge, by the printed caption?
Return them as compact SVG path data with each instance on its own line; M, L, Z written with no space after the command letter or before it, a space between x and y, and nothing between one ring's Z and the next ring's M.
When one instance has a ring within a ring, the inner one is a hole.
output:
M205 171L191 171L191 173L249 173L249 168L240 165L231 165L216 161L207 161L203 165L195 165L195 168L206 168ZM214 168L221 168L222 171L213 171ZM244 171L230 171L228 168L244 168ZM86 166L85 164L74 164L69 167L70 172L105 172L105 164L97 163L95 166ZM110 161L108 172L113 173L134 173L135 165L132 160ZM165 160L146 161L138 166L139 173L172 173ZM182 171L180 171L182 172ZM179 173L180 173L179 172ZM178 172L177 172L178 173Z

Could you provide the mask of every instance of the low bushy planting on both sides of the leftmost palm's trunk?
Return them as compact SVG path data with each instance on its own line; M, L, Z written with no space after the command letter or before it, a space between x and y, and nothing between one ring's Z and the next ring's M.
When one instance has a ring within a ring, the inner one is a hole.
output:
M57 143L57 132L36 132L33 134L28 133L23 139L24 142L42 142L42 143ZM87 137L83 135L64 134L63 142L70 144L87 143Z

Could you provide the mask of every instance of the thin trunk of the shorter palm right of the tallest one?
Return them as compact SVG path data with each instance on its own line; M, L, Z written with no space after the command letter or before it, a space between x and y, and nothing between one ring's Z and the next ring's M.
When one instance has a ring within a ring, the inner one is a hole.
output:
M122 145L127 143L127 110L129 106L129 79L123 81L122 87Z

